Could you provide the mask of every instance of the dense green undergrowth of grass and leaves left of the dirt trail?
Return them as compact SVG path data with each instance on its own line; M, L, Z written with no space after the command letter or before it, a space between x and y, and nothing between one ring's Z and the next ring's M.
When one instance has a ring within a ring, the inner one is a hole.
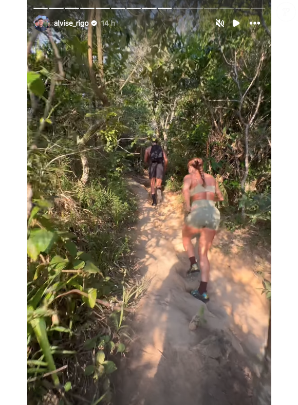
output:
M123 321L143 288L127 232L136 202L121 173L80 187L66 162L42 170L50 157L32 156L41 170L28 174L28 401L108 401L110 356L125 351Z

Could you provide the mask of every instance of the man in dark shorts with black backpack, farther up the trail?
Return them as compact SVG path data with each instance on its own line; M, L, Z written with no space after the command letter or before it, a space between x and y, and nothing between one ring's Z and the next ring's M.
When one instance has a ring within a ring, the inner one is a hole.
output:
M167 157L164 150L158 144L157 138L152 139L152 146L149 146L145 151L144 162L150 162L149 164L149 178L150 178L150 189L152 195L152 205L156 206L156 195L155 195L155 182L157 188L157 200L161 202L161 183L163 175L167 166Z

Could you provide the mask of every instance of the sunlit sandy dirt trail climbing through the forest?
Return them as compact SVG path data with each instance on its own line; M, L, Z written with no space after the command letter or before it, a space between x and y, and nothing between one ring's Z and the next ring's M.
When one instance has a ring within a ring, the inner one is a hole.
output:
M251 404L247 354L262 352L268 322L255 262L248 252L236 255L230 234L219 233L210 254L211 300L207 306L196 300L189 291L199 276L185 278L177 197L164 194L153 208L144 186L131 185L140 199L136 256L151 282L133 319L132 350L119 367L116 404ZM206 322L190 330L202 306Z

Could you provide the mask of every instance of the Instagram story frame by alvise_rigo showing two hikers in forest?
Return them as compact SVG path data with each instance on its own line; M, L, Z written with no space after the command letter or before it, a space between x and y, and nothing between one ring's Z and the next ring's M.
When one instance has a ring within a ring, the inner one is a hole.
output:
M28 1L27 326L29 405L271 404L271 2Z

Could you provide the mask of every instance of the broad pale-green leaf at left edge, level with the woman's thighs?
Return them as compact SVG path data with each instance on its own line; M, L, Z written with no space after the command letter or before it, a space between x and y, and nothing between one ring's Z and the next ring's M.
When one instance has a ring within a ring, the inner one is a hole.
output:
M32 229L27 241L27 253L36 260L40 252L48 253L57 240L57 234L46 229Z

